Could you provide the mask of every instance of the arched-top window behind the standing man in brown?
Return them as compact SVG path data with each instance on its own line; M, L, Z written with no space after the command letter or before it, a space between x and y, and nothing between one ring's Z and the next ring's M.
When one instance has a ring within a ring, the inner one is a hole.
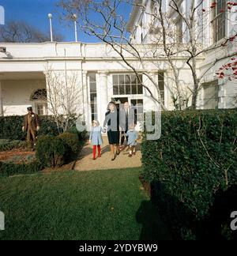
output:
M47 90L45 88L40 88L33 92L31 100L36 114L47 115Z

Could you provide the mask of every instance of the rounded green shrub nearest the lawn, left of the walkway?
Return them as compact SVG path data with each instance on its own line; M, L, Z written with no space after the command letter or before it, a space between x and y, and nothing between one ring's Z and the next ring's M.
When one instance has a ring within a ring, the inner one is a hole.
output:
M70 149L60 137L40 137L36 145L36 159L43 167L61 167L67 158Z

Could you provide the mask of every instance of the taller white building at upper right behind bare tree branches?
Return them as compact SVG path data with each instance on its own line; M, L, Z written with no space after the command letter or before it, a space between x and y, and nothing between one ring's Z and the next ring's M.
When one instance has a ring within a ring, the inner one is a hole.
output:
M183 16L188 17L190 5L193 1L178 0L175 2ZM160 0L135 0L134 3L134 9L130 14L128 24L128 30L131 33L130 41L132 43L156 43L157 34L162 33L159 21ZM172 24L174 24L173 32L176 43L188 43L190 38L186 23L171 8L170 3L171 0L162 0L164 17L170 18ZM228 5L227 0L194 1L194 6L198 6L196 13L199 16L196 17L199 25L199 28L196 28L195 31L197 33L197 44L201 45L201 50L213 49L213 51L206 52L205 55L200 55L202 60L198 62L198 71L200 74L204 74L201 78L202 86L199 92L198 108L237 107L237 80L230 81L227 77L218 79L216 75L220 67L230 62L228 56L233 55L235 62L237 60L237 36L235 36L237 35L237 1L231 1L230 3L235 4ZM168 21L168 19L165 21ZM235 36L235 40L229 43L228 47L214 49L231 36ZM216 62L217 59L220 61ZM214 62L216 62L215 65L213 65ZM180 80L186 77L183 75L183 72L186 73L186 71L186 68L180 70Z

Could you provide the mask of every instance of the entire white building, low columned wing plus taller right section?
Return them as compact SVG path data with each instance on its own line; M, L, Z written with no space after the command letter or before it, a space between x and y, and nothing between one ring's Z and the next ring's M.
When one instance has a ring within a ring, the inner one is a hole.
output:
M180 4L187 8L187 2L189 1L180 1ZM156 11L152 1L148 0L144 3L149 12ZM164 8L168 8L167 1L164 2ZM213 23L215 21L210 18L209 24ZM149 24L145 9L134 6L128 24L131 40L134 40L134 43L151 43L152 30L149 29ZM223 29L216 32L212 31L216 29L214 25L206 26L204 33L209 36L204 37L205 47L211 47L216 40L224 40L224 37L233 30L231 25L228 19L224 20ZM182 26L183 24L177 24L179 29ZM66 77L64 74L77 73L76 83L80 90L77 113L85 117L88 125L92 119L103 122L107 104L111 100L121 103L128 101L135 106L139 104L138 119L142 119L143 111L152 109L149 92L140 85L133 71L126 66L122 58L104 43L0 43L0 50L0 115L24 115L28 106L32 106L40 115L50 114L45 74L48 66L55 73L62 73L60 78L62 80ZM225 51L227 50L210 51L208 55L198 57L198 72L208 70L202 80L204 86L198 95L198 108L236 107L236 81L220 80L216 77L216 70L226 60L223 59L216 66L208 69L219 55L227 55ZM233 51L232 48L229 51ZM159 65L149 62L147 69L159 85L164 106L167 110L173 110L175 107L171 92L172 73L167 59L154 57L153 60ZM191 88L193 83L191 71L184 64L184 57L179 56L175 60L175 65L180 70L179 79L183 81L183 87ZM143 72L138 65L137 70ZM142 74L141 80L144 82L146 80ZM155 88L152 88L153 85L149 81L146 85L156 94Z

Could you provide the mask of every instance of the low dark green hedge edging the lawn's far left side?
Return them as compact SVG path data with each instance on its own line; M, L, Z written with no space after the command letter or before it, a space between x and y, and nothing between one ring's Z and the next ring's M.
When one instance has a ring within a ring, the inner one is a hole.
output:
M0 177L9 177L11 175L27 175L42 170L42 165L37 161L30 164L13 164L0 162Z

